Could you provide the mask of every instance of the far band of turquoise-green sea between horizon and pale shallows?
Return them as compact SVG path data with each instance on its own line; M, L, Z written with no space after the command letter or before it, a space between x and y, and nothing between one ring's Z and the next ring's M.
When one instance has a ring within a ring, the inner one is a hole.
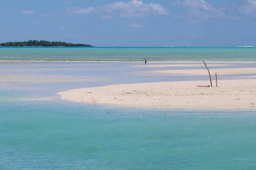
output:
M21 61L255 61L250 47L0 48L0 60Z

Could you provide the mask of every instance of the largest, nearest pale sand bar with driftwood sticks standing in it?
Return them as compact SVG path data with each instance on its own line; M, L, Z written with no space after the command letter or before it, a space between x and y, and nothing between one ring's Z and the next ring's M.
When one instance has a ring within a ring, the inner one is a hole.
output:
M215 82L214 82L215 84ZM108 85L60 92L61 99L111 105L168 108L247 108L256 104L256 80L221 80L218 87L209 81L153 82Z

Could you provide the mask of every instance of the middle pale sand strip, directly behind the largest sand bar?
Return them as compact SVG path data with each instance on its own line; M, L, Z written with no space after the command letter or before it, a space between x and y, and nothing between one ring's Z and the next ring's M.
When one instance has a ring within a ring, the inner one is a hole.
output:
M218 68L210 69L212 75L217 73L218 75L234 75L234 74L256 74L256 68ZM132 73L135 75L183 75L183 76L203 76L208 75L207 69L180 69L180 70L156 70L156 71L143 71Z

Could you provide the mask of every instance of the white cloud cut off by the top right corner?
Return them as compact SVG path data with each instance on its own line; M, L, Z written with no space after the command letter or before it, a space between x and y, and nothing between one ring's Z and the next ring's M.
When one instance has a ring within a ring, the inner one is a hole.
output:
M237 8L239 12L255 17L256 0L246 0L244 4Z

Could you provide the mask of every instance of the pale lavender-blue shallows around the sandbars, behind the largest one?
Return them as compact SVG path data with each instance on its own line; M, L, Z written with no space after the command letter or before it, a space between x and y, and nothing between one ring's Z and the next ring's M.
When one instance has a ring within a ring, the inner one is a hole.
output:
M201 62L198 62L201 63ZM197 63L197 64L198 64ZM149 62L151 64L164 64L163 62ZM183 64L180 62L179 64ZM187 64L187 63L184 63ZM221 64L221 63L219 63ZM1 63L0 64L0 101L22 101L58 99L55 93L74 88L96 87L114 84L129 84L143 82L172 82L208 80L206 69L202 67L129 67L143 65L140 62L110 62L110 63ZM203 64L202 64L203 65ZM252 68L256 63L232 63L225 68ZM147 72L166 69L198 69L206 72L204 76L137 76L137 72ZM210 69L222 68L210 66ZM135 74L134 74L135 73ZM256 74L223 75L218 79L248 79ZM19 95L17 95L19 94ZM10 95L10 96L8 96Z

